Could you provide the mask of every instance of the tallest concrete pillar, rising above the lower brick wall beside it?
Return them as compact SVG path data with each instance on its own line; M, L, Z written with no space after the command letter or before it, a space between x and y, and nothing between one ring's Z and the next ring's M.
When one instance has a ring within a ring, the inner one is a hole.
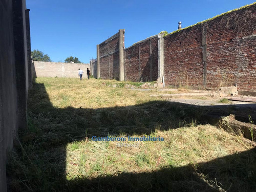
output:
M124 80L124 29L119 30L119 81Z

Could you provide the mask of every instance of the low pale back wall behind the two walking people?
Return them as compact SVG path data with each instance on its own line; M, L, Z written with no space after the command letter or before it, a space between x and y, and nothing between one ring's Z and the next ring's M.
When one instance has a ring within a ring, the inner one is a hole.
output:
M36 77L77 77L78 69L86 75L90 64L34 61Z

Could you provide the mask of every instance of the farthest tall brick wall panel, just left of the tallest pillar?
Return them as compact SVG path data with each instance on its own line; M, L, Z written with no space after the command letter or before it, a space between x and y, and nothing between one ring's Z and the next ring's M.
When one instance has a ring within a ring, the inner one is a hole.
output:
M99 45L100 77L118 79L119 76L119 33Z

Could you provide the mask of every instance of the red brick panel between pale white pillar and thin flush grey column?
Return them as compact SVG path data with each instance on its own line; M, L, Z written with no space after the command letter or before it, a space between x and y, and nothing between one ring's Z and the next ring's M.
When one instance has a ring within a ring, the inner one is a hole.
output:
M164 80L167 85L203 87L200 25L164 37Z

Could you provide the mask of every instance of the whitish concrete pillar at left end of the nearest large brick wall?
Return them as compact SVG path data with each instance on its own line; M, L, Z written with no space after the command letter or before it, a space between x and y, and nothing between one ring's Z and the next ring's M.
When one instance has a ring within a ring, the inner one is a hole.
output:
M158 72L157 77L160 82L163 82L164 74L164 55L163 55L163 34L158 34Z

